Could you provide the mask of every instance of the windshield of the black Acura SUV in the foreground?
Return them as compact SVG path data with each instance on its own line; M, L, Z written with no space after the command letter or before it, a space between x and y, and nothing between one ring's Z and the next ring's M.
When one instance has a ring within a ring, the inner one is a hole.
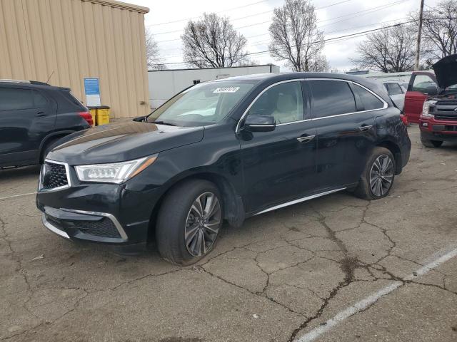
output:
M200 83L184 90L157 108L149 123L200 126L218 123L253 87L253 81Z

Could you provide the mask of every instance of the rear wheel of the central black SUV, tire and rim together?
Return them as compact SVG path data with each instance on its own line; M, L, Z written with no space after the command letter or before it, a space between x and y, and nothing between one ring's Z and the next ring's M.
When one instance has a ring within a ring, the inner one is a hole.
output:
M392 189L395 170L392 152L385 147L376 147L368 158L355 195L368 200L386 197Z

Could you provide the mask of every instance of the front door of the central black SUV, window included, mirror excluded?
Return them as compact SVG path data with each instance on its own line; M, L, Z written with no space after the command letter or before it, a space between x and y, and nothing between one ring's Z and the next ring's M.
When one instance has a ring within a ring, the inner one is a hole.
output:
M304 96L303 96L304 95ZM241 142L246 211L265 209L303 196L316 182L316 130L301 81L263 91L247 115L272 115L272 132L238 133Z

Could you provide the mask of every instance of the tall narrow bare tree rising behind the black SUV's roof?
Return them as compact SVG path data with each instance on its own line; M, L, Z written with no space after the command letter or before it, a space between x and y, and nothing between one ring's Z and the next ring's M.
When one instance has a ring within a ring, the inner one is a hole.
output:
M326 71L323 32L308 0L286 0L273 11L269 49L276 61L286 60L293 71Z

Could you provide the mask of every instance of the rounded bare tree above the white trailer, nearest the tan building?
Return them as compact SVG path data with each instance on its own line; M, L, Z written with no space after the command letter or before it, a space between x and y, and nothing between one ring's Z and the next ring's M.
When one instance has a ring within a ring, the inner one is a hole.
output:
M184 61L197 68L235 66L246 61L246 38L237 33L229 18L214 13L189 21L183 41Z

